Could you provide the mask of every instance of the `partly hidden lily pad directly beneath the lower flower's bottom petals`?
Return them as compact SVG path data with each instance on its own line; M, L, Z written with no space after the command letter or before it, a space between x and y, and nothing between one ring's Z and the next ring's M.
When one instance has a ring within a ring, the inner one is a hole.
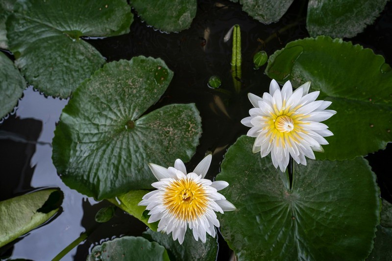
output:
M169 252L172 261L215 261L217 260L218 242L217 238L207 237L206 242L196 241L191 230L185 233L184 242L180 245L174 241L171 234L154 232L148 229L143 233L152 240L163 245Z

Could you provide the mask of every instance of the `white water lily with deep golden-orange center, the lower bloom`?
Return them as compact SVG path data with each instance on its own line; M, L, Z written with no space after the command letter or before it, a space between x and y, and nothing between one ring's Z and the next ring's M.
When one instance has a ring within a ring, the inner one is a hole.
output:
M159 221L158 231L168 235L182 244L187 227L205 243L206 232L215 237L215 228L219 221L215 211L236 210L233 204L217 192L229 184L225 181L211 182L204 179L211 164L212 156L205 157L191 173L187 174L184 163L177 159L174 167L165 168L148 164L154 176L159 180L152 183L158 189L144 195L140 206L147 206L150 212L148 223Z

